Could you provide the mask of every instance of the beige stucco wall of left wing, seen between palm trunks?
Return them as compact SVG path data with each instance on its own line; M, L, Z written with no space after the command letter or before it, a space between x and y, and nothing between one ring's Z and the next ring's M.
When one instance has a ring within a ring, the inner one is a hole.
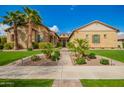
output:
M36 42L36 36L39 34L43 37L44 42L49 42L49 31L43 27L37 27L32 30L32 42ZM13 29L7 31L7 42L12 43L11 35L13 33ZM28 27L19 27L18 28L18 44L20 48L27 48L27 38L28 38Z

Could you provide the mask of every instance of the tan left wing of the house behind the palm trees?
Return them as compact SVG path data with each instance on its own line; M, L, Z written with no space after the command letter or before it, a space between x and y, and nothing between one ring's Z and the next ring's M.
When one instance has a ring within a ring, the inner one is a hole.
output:
M12 43L14 41L13 27L5 30L7 33L7 43ZM38 27L32 27L32 42L50 42L51 34L50 29L44 25ZM19 48L27 48L28 46L28 26L18 27L18 44Z

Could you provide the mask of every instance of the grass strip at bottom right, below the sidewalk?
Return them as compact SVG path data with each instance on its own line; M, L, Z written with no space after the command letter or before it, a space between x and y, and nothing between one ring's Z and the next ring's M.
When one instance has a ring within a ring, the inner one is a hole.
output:
M122 80L97 80L97 79L81 79L84 87L124 87L124 79Z

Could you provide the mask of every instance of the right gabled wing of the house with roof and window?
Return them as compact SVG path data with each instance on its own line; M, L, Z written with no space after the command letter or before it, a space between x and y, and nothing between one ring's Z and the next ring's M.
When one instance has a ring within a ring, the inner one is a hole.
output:
M69 41L87 39L90 48L117 48L118 29L100 21L93 21L72 32Z

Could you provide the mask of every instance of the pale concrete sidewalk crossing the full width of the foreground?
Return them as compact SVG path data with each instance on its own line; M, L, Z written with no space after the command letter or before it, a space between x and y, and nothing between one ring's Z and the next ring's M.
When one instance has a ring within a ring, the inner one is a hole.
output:
M124 79L124 66L1 66L0 78Z

